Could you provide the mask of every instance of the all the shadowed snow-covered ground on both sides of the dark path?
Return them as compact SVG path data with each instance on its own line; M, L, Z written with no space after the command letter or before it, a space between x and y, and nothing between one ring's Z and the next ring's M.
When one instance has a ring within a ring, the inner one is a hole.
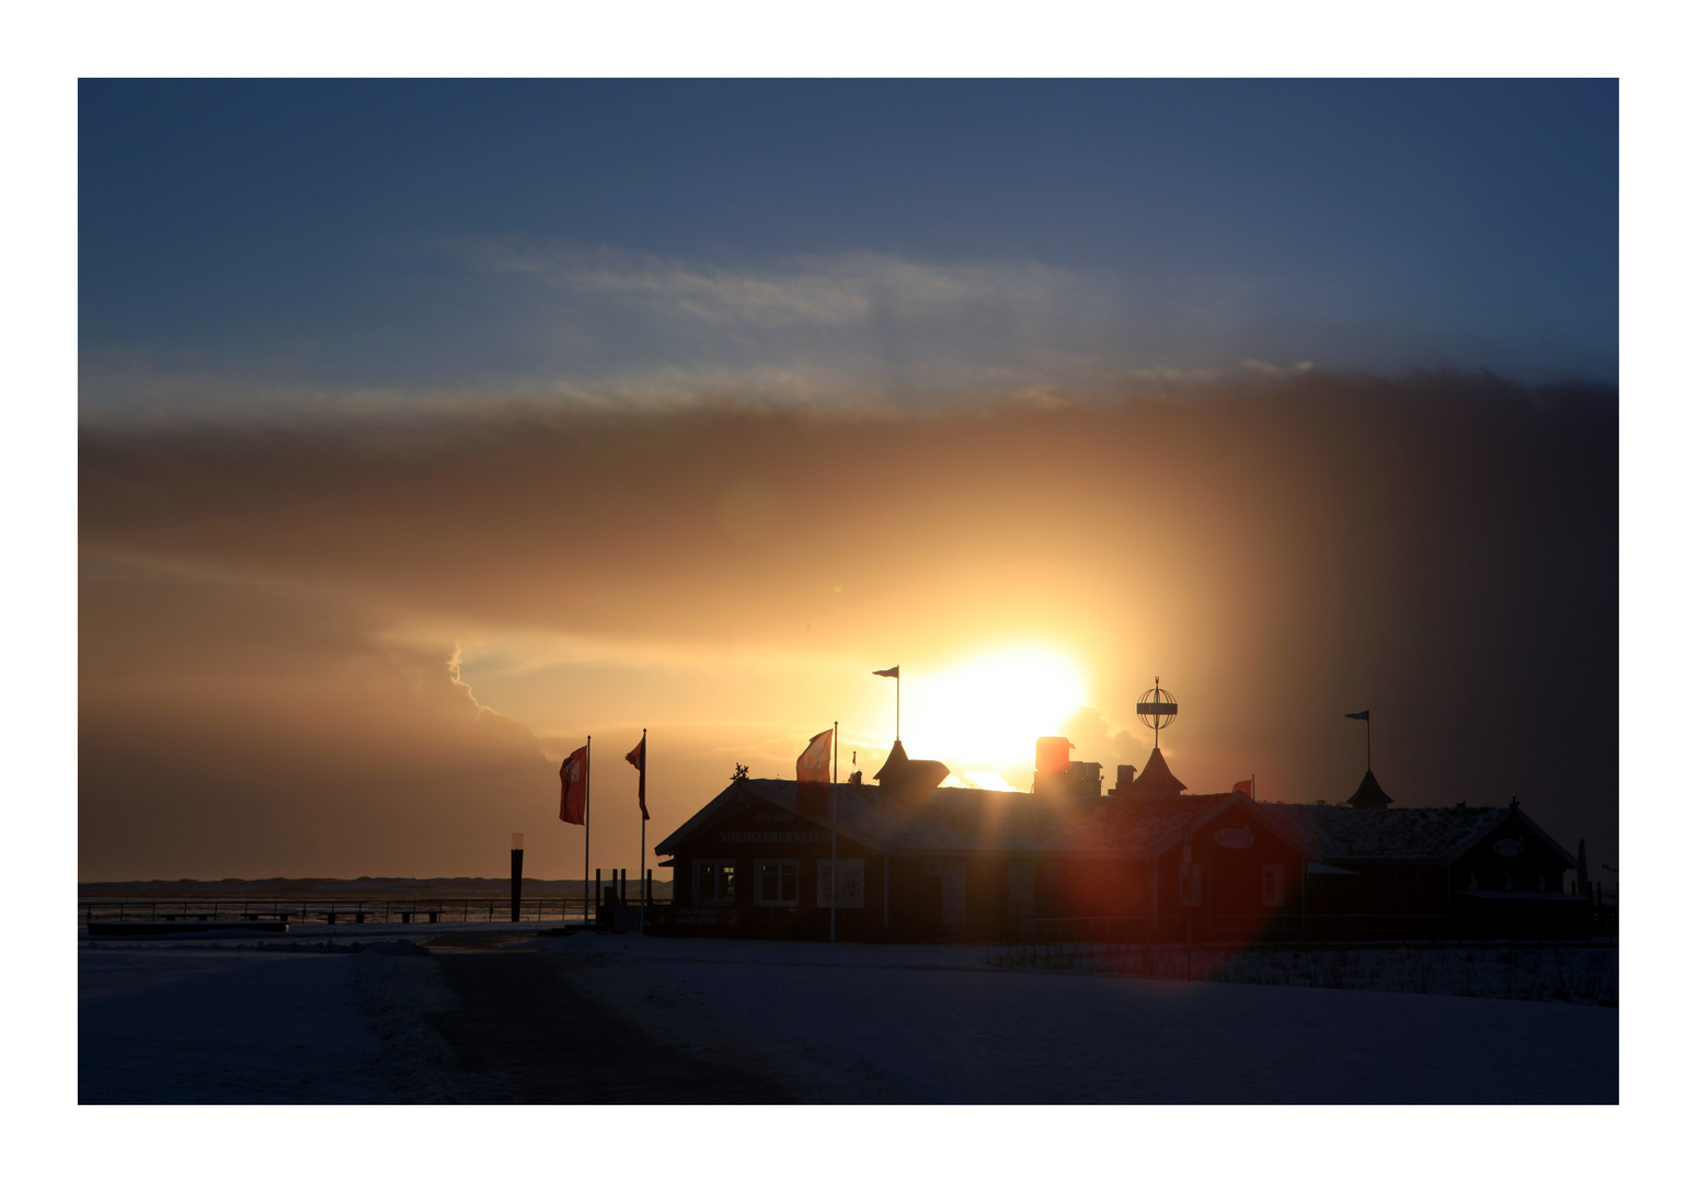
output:
M451 927L80 942L88 1102L499 1102L426 1015L456 998ZM346 945L353 934L338 934ZM395 944L399 942L399 944ZM971 945L818 945L580 934L548 957L650 1037L818 1102L1595 1102L1619 1098L1604 1006L993 969ZM294 952L285 952L294 950ZM711 1100L711 1098L703 1098Z

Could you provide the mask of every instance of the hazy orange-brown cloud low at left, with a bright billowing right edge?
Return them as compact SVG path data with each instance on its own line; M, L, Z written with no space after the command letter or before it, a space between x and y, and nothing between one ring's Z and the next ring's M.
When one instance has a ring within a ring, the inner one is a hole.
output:
M546 818L536 737L343 599L93 560L80 613L85 879L467 874Z

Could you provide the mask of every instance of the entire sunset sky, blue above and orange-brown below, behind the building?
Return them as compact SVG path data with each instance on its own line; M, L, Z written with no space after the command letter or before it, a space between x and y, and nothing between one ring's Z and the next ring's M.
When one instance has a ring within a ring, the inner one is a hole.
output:
M1614 862L1612 81L78 97L85 881L577 874L587 735L635 869L643 726L653 845L898 662L964 781L1161 676Z

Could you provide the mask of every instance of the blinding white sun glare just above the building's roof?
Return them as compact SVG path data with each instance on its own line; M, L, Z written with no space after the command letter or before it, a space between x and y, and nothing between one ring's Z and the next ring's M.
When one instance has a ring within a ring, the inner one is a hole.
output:
M1057 728L1088 698L1084 676L1047 648L1008 648L920 674L903 687L901 730L915 759L962 769L1027 769L1039 735ZM972 772L983 788L1001 788L996 772ZM1027 777L1028 779L1028 777Z

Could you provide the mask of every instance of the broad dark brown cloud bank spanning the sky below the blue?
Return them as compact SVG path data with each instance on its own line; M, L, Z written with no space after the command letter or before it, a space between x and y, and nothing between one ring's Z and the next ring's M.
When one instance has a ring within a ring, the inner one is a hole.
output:
M1610 849L1617 475L1612 389L1461 377L85 428L85 877L207 844L251 855L227 874L463 872L456 832L550 771L451 638L392 640L426 618L881 662L1042 638L1093 662L1103 735L1179 687L1208 777L1344 796L1339 716L1371 706L1398 803L1519 794ZM338 833L412 854L348 867Z

